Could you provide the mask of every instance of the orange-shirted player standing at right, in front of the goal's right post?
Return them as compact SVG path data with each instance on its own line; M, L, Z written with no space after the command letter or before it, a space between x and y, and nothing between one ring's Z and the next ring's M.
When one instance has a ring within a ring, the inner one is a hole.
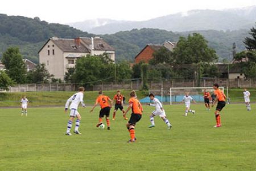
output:
M226 96L224 95L224 92L218 89L218 84L213 84L214 89L214 95L216 96L215 101L212 105L212 107L218 102L216 111L215 111L215 118L216 118L216 126L214 127L221 127L221 119L220 119L220 112L226 105Z

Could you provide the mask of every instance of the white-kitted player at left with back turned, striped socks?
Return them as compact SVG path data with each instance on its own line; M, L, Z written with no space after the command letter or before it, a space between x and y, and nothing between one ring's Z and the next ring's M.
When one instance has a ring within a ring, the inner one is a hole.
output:
M84 99L84 87L79 87L79 92L77 92L73 96L71 96L65 104L65 112L68 111L68 106L69 106L69 109L71 109L70 114L69 114L69 120L68 120L66 135L72 135L70 130L71 130L72 123L73 123L75 118L77 118L77 119L76 119L76 126L75 126L74 133L75 134L81 134L79 132L81 116L80 116L79 112L77 112L77 108L78 108L80 102L81 102L82 107L85 108L85 104L84 104L83 99ZM70 103L71 103L71 105L69 105Z

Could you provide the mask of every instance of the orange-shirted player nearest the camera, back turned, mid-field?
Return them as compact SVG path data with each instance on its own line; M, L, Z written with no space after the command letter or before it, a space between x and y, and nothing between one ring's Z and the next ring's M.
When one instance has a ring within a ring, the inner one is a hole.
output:
M137 99L135 91L132 91L130 93L130 99L129 99L129 106L124 114L129 112L129 110L132 110L130 120L126 124L127 129L130 132L130 140L128 143L134 143L135 140L135 125L139 120L141 120L143 108L139 100Z

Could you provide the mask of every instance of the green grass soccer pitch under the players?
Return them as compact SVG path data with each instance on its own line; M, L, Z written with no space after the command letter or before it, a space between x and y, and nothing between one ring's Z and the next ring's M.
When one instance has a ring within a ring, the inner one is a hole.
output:
M247 112L243 104L227 105L222 127L214 129L213 110L203 104L192 105L196 115L187 117L184 105L166 105L173 125L167 130L158 117L156 127L147 128L154 108L144 105L136 143L127 143L121 112L112 130L100 130L99 108L93 113L80 108L82 135L65 136L63 108L29 108L28 117L21 117L20 109L0 109L0 170L256 170L256 106L251 106Z

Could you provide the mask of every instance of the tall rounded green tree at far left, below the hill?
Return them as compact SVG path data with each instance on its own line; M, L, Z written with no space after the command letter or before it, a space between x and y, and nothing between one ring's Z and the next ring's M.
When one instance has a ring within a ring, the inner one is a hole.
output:
M2 63L5 65L6 73L18 84L26 82L26 66L19 53L19 48L10 47L3 53Z

